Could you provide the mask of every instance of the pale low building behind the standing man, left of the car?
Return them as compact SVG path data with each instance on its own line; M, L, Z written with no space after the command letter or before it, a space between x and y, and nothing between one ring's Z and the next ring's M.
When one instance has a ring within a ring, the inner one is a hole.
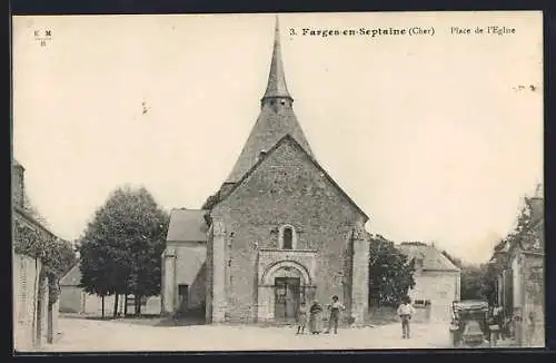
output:
M408 292L416 320L449 322L454 301L459 300L461 273L434 244L401 243L398 248L415 261L415 287Z

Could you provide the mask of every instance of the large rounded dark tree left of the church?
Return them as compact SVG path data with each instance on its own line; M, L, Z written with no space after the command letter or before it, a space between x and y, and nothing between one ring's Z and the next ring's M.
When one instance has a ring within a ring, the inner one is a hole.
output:
M169 215L146 188L117 188L100 207L80 241L81 285L100 296L133 294L136 313L141 297L160 293L161 259Z

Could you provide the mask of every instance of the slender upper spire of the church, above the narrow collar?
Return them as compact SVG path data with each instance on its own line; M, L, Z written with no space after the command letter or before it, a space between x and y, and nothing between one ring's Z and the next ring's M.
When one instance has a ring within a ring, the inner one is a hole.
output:
M284 63L281 60L281 46L280 46L280 22L276 16L275 26L275 42L272 48L272 59L270 60L270 71L268 73L268 84L265 96L261 99L261 106L267 101L280 99L288 100L289 104L294 101L289 95L288 87L286 86L286 76L284 73Z

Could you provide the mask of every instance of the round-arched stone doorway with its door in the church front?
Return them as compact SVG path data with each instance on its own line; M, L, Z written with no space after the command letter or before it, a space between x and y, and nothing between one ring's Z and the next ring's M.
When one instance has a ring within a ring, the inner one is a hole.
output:
M265 268L259 281L259 320L294 323L304 302L315 294L308 269L298 262L280 261Z

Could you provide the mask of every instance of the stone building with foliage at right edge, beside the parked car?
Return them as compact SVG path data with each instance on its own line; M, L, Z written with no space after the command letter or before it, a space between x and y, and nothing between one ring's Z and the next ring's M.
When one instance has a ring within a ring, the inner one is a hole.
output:
M543 186L525 198L523 229L496 245L489 261L497 279L497 303L513 321L519 346L545 345L545 215Z

